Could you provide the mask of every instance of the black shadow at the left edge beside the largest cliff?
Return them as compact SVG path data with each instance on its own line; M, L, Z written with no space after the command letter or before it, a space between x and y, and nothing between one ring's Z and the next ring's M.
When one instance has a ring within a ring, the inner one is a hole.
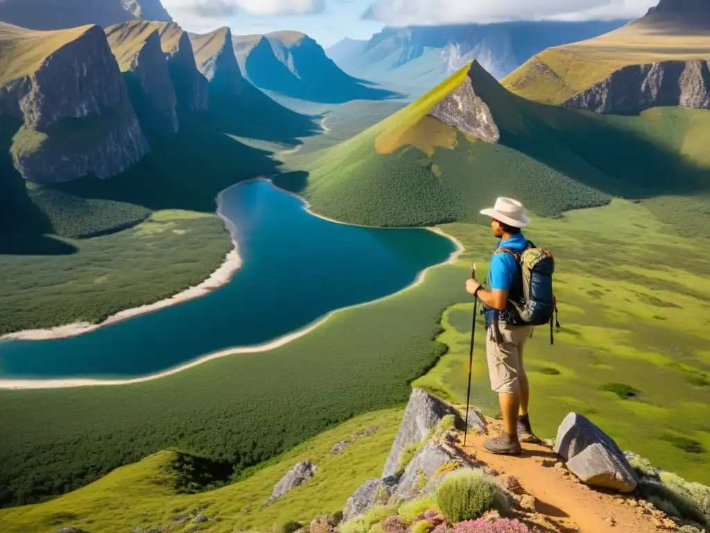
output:
M50 237L52 224L28 192L10 156L12 137L21 122L0 119L0 254L65 255L77 249Z

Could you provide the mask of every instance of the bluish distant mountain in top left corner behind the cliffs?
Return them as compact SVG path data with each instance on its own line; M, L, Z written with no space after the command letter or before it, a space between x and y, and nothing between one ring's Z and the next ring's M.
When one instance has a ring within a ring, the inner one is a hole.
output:
M160 0L2 0L0 21L33 30L111 26L145 18L172 21Z

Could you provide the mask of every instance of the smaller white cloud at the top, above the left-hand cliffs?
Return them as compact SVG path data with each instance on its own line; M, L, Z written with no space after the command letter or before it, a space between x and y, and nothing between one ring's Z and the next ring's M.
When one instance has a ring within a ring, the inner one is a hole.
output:
M200 18L226 18L239 13L258 16L310 15L324 10L325 0L163 0L163 6L175 13Z

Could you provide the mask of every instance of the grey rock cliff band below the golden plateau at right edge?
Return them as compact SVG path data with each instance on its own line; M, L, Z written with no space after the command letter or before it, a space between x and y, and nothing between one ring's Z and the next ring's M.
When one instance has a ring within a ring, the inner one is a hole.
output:
M650 107L710 109L706 60L629 65L564 102L595 113L638 114Z

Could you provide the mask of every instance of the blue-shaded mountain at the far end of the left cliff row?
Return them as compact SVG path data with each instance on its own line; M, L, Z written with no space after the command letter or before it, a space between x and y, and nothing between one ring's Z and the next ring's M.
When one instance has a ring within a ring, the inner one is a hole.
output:
M234 36L244 75L256 87L310 102L379 100L390 91L371 87L343 72L312 38L297 31Z

